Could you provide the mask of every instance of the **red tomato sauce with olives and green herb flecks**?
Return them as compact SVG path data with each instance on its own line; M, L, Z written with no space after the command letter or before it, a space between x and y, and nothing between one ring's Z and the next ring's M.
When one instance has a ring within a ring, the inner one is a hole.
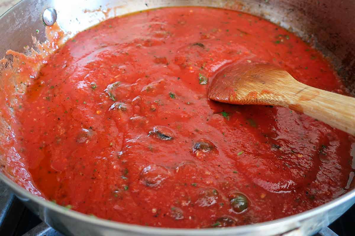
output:
M319 52L255 16L178 7L108 19L50 57L16 111L35 186L96 217L178 228L273 220L351 188L354 137L286 108L207 99L234 62L345 93Z

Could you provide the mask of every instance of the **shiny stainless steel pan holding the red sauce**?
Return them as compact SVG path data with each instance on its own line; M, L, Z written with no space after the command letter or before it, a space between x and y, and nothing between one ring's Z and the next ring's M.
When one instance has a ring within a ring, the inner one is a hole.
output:
M42 13L53 7L57 22L66 32L76 32L99 23L105 16L164 6L214 6L252 13L294 31L328 56L343 77L349 91L355 93L355 1L308 0L22 0L0 18L0 58L7 49L23 51L31 46L31 34L45 40ZM111 8L111 10L109 10ZM99 11L95 11L98 10ZM35 34L36 30L39 34ZM11 56L7 56L11 62ZM6 66L10 66L6 65ZM1 70L1 67L0 67ZM0 78L1 82L1 78ZM1 98L0 90L0 98ZM354 112L355 117L355 112ZM355 118L354 118L355 119ZM0 143L7 124L0 122ZM355 152L353 145L352 152ZM349 150L351 151L351 150ZM353 154L354 155L354 154ZM5 158L0 154L0 160ZM355 162L355 156L354 156ZM4 171L4 168L1 168ZM300 214L254 225L226 229L165 229L122 224L91 218L32 195L0 173L0 179L37 213L41 219L66 235L312 235L342 215L355 202L355 190ZM16 180L16 177L15 177Z

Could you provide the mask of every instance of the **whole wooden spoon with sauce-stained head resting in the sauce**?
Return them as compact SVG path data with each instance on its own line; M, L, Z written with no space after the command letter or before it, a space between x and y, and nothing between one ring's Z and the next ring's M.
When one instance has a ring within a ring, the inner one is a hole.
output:
M273 65L227 66L214 77L208 98L290 108L355 136L355 98L302 84Z

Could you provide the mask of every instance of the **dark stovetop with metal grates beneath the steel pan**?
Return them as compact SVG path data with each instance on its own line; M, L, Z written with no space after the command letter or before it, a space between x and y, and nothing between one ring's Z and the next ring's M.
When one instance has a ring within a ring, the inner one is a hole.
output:
M355 205L315 236L354 236L354 224ZM2 182L0 182L0 235L65 236L29 211Z

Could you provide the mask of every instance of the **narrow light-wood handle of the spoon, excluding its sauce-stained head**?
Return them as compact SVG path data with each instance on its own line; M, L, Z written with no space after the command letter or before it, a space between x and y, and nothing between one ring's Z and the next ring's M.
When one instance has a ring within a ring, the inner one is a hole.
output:
M313 88L298 81L290 92L290 109L355 136L355 98Z

